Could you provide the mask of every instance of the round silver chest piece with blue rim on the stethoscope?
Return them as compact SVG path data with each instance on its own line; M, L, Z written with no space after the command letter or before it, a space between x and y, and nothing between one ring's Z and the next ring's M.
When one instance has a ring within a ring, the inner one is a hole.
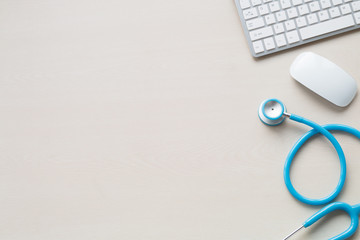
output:
M278 99L267 99L260 104L259 118L266 125L277 126L289 116L285 105Z

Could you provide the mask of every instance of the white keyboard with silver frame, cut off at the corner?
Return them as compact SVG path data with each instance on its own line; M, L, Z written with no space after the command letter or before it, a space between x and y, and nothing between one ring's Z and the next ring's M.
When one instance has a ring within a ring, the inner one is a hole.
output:
M254 57L360 28L360 0L235 0Z

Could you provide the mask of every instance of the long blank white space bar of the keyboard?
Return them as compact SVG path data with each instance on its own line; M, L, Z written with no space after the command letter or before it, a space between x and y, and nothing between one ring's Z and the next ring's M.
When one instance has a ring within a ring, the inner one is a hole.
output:
M322 34L334 32L340 29L354 26L355 22L352 15L331 19L319 24L301 28L300 35L303 40L313 38Z

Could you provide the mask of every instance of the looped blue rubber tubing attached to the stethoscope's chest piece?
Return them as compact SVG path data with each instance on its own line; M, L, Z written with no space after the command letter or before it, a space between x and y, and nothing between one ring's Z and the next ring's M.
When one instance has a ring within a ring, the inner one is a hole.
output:
M359 139L360 139L360 131L358 131L355 128L352 128L352 127L349 127L346 125L340 125L340 124L329 124L329 125L320 126L317 123L314 123L308 119L297 116L295 114L291 114L290 119L293 121L308 125L308 126L312 127L313 129L311 131L307 132L306 134L304 134L295 143L295 145L290 150L290 152L286 158L285 166L284 166L284 180L285 180L286 187L288 188L290 193L297 200L299 200L303 203L310 204L310 205L322 205L322 204L329 203L339 195L339 193L341 192L341 190L345 184L345 179L346 179L346 160L345 160L344 152L343 152L339 142L329 131L348 132L348 133L358 137ZM312 198L305 197L305 196L301 195L298 191L296 191L296 189L294 188L294 186L291 183L290 168L291 168L292 161L293 161L296 153L298 152L298 150L303 146L303 144L307 140L309 140L311 137L313 137L314 135L316 135L318 133L323 134L332 143L332 145L334 146L334 148L339 156L340 179L339 179L339 182L338 182L336 188L334 189L334 191L332 193L330 193L330 195L328 195L327 197L324 197L324 198L320 198L320 199L312 199Z

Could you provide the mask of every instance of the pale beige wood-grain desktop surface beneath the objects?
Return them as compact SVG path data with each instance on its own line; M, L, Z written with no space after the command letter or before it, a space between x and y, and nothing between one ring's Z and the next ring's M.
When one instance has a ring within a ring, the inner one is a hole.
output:
M360 83L360 32L254 60L232 0L0 1L0 238L282 239L319 208L295 201L284 159L308 128L262 125L268 97L319 123L360 128L288 74L301 52ZM360 142L338 198L360 202ZM321 137L299 154L295 186L338 179ZM343 214L296 239L327 239ZM358 239L357 234L353 239Z

